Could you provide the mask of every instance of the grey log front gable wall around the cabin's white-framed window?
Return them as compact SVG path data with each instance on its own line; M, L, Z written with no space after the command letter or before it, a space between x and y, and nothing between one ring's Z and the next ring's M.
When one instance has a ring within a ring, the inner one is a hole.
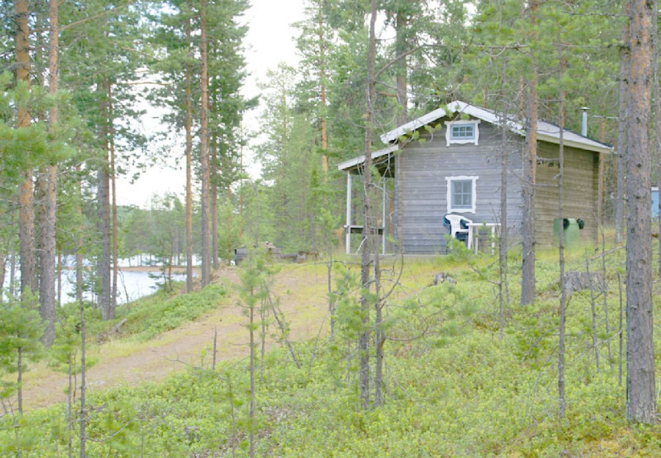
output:
M407 254L446 252L443 216L447 213L446 177L477 176L476 212L461 213L474 222L495 222L500 212L500 132L487 122L479 124L479 145L446 145L441 120L433 134L421 131L424 142L409 142L401 152L401 243ZM424 132L424 133L422 133ZM520 232L521 153L523 138L510 136L508 156L508 226ZM553 230L553 227L551 227Z

